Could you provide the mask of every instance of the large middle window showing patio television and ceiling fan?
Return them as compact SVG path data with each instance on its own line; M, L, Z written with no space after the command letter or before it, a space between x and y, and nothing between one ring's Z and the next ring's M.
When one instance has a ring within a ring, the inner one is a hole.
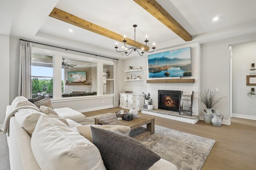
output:
M62 98L97 95L97 63L65 58L62 82Z

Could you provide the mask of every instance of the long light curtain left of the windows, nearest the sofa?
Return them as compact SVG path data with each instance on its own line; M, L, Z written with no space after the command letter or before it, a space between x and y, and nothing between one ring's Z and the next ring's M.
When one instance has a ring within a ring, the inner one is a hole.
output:
M31 59L31 43L21 40L18 96L24 96L25 98L32 98Z

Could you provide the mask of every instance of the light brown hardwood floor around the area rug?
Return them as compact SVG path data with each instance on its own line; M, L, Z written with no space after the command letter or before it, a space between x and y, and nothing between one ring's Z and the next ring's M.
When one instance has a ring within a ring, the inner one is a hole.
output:
M83 114L89 117L120 110L121 108L115 107ZM139 112L139 114L142 113ZM231 125L214 127L203 121L193 125L162 117L147 116L154 117L156 125L215 140L216 143L204 162L202 170L256 170L256 121L254 120L233 117Z

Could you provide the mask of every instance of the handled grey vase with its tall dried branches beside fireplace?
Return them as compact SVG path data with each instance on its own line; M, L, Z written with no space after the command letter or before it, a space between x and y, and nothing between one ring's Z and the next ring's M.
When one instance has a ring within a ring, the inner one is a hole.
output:
M205 89L203 93L198 93L198 96L199 96L198 100L200 100L206 106L206 113L204 113L205 123L212 123L211 121L213 117L212 107L218 102L220 102L222 98L226 98L226 97L222 97L216 100L214 99L216 94L217 94L216 90L212 91L209 89L208 90Z

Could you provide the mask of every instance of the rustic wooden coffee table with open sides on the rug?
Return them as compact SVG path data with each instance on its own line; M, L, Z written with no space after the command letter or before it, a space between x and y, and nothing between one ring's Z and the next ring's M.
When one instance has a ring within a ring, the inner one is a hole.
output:
M138 117L134 118L132 121L118 120L115 114L98 117L95 118L95 125L129 126L131 128L131 132L133 130L137 131L133 134L130 133L130 137L133 137L138 141L155 133L155 119L143 115L138 115ZM147 128L142 127L143 125L147 125Z

